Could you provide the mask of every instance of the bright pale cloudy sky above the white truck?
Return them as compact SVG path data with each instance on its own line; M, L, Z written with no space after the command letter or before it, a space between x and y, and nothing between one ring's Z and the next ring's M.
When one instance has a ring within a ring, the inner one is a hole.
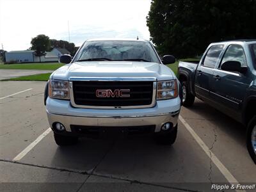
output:
M76 46L90 38L143 38L150 0L0 0L0 49L26 50L44 34Z

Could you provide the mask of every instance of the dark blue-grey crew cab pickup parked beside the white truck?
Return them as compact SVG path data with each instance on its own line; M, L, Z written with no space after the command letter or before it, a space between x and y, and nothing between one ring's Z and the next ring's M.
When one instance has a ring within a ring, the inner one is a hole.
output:
M247 147L256 163L256 40L213 43L199 63L179 62L182 103L195 97L247 127Z

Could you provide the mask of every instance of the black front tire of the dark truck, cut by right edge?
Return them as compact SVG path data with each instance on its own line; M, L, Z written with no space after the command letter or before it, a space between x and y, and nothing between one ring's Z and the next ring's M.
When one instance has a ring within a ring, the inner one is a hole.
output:
M248 152L250 156L252 157L253 162L256 164L256 152L253 149L253 143L252 143L252 134L253 134L253 129L255 131L256 127L256 116L253 116L253 118L250 120L248 126L247 126L247 131L246 131L246 145ZM255 140L256 136L254 134ZM254 143L254 146L256 143ZM255 146L256 147L256 146Z

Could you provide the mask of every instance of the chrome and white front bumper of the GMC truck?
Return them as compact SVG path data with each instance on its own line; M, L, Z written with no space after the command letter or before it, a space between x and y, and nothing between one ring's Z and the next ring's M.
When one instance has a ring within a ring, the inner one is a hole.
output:
M47 117L51 127L60 122L71 132L70 125L100 127L136 127L155 125L155 132L161 131L166 122L177 125L180 98L157 100L154 108L143 109L84 109L73 108L68 100L51 99L46 102Z

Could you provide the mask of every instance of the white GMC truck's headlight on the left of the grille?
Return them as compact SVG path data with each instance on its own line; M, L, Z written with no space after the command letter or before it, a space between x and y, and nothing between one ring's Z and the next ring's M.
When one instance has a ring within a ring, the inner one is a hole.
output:
M68 81L50 80L49 97L54 99L70 99Z

